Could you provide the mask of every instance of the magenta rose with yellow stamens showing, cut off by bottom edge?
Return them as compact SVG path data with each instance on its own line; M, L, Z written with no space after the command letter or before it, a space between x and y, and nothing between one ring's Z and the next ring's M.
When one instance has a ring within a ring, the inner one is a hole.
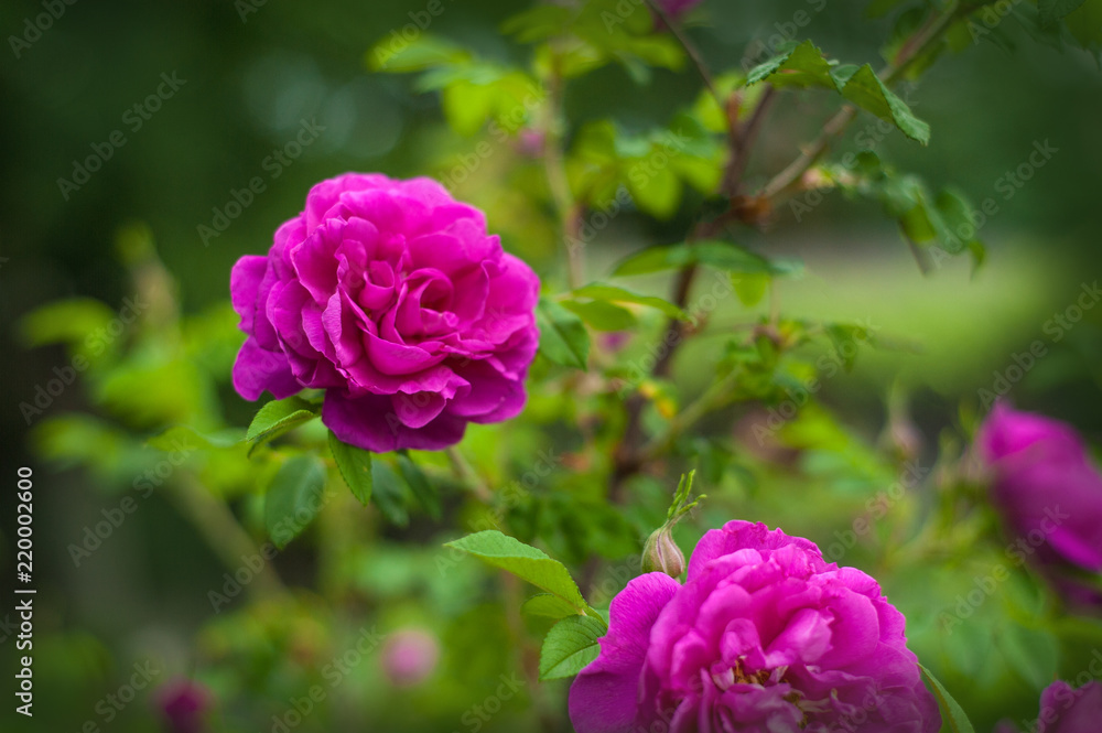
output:
M577 733L937 733L905 619L872 578L746 521L704 535L684 585L636 578L570 690Z

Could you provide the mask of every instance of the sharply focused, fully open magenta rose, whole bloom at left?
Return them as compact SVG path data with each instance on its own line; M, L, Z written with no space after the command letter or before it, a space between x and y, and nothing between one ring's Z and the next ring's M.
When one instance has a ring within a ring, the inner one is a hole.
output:
M346 443L436 450L523 408L539 279L435 181L322 181L230 291L248 334L237 391L324 389L322 421Z

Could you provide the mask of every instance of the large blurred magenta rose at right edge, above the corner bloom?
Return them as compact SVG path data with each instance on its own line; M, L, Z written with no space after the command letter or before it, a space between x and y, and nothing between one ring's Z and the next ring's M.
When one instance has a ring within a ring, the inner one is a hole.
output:
M976 443L1020 557L1102 572L1102 476L1074 429L998 402Z

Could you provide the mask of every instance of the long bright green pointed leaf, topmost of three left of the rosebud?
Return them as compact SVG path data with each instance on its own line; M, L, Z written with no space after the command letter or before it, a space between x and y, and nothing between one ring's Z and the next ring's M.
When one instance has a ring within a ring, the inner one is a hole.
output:
M488 564L500 568L547 591L585 613L588 604L570 576L570 571L558 560L552 560L542 550L503 535L496 529L467 535L446 547L468 552Z

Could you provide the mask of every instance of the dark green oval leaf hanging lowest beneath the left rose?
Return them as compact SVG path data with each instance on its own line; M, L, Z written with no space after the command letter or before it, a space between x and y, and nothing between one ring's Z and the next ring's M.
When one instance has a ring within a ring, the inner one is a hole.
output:
M283 549L317 517L325 504L325 464L314 455L295 455L280 466L264 498L264 526Z

